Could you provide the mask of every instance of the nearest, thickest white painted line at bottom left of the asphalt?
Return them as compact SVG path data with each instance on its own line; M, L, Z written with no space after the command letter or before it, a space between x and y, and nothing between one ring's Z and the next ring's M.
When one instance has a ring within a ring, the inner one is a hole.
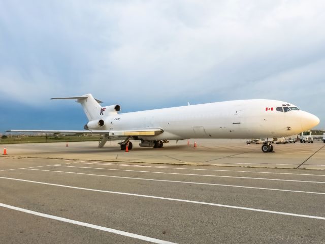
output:
M99 226L99 225L93 225L93 224L88 224L88 223L85 223L85 222L66 219L66 218L62 218L62 217L58 217L58 216L54 216L54 215L47 215L47 214L43 214L42 212L36 212L36 211L28 210L28 209L25 209L25 208L20 208L20 207L7 205L7 204L4 204L4 203L0 203L0 207L5 207L5 208L25 212L26 214L36 215L36 216L44 217L44 218L47 218L47 219L58 220L58 221L62 221L62 222L66 222L66 223L70 223L70 224L74 224L74 225L80 225L80 226L84 226L84 227L88 227L88 228L92 228L92 229L96 229L96 230L102 230L102 231L106 231L106 232L110 232L110 233L114 233L114 234L118 234L118 235L123 235L123 236L132 237L132 238L136 238L136 239L140 239L140 240L150 241L150 242L153 242L153 243L161 243L161 244L174 243L174 242L170 242L170 241L151 238L151 237L148 237L148 236L133 234L133 233L125 232L125 231L122 231L122 230L116 230L116 229L111 229L111 228L107 228L107 227L103 227L103 226Z

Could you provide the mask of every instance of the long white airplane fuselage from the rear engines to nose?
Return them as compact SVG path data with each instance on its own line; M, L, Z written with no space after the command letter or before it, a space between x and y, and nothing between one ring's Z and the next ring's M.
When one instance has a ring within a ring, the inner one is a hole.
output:
M285 137L314 126L313 121L318 118L308 112L276 110L278 107L296 107L286 104L276 100L237 100L120 113L105 117L105 126L101 129L161 128L164 132L160 135L141 139L181 140Z

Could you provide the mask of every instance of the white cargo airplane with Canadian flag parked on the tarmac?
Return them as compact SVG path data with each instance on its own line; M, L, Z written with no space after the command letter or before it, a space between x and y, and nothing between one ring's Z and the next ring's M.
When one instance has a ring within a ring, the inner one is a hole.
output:
M74 99L80 103L89 122L82 131L10 130L9 132L41 132L103 135L99 147L107 140L123 140L121 149L131 150L130 141L140 146L163 147L169 140L188 138L277 138L310 130L319 118L293 104L276 100L252 99L206 103L181 107L118 113L119 105L102 107L91 94ZM268 141L268 140L267 140ZM262 151L273 151L270 143Z

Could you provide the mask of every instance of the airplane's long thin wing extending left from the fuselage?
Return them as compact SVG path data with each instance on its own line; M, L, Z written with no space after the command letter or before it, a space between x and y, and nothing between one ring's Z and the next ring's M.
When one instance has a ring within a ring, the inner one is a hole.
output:
M25 132L25 133L45 133L45 134L93 134L93 135L108 135L109 137L127 137L127 136L155 136L164 132L161 128L145 128L135 130L83 130L83 131L69 131L69 130L8 130L6 132Z

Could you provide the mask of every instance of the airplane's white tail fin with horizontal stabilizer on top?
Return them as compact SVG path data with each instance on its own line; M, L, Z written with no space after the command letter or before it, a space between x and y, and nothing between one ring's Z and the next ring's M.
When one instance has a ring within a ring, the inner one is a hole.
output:
M64 97L64 98L51 98L51 99L74 99L80 103L89 121L101 117L102 101L94 99L91 94L86 94L80 97Z

